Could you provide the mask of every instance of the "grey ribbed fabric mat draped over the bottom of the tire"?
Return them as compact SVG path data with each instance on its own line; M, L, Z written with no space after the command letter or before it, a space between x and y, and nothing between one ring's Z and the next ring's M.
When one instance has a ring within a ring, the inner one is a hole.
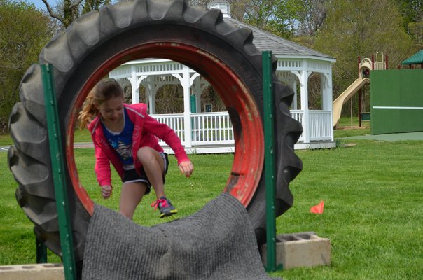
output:
M95 206L83 279L271 279L247 211L222 193L200 211L147 228Z

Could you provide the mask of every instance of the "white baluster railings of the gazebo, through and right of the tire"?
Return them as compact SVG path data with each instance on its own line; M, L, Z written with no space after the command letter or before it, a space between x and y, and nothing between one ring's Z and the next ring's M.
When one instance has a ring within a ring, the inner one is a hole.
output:
M185 144L185 125L182 113L151 116L160 123L169 125L181 139L182 144ZM291 110L291 116L303 123L304 111ZM309 118L310 141L331 141L333 133L331 111L310 110ZM228 112L192 113L191 128L191 144L193 146L234 144L233 126ZM303 135L298 141L304 141ZM166 144L160 141L160 145Z

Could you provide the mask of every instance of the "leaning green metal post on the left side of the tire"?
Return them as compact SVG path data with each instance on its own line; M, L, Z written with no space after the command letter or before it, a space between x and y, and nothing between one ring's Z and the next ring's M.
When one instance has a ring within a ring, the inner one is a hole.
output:
M64 176L63 155L61 153L62 141L60 138L59 114L57 113L55 87L53 83L53 66L51 64L42 64L41 73L43 77L44 103L46 104L48 141L50 144L50 158L55 187L57 218L59 219L60 246L62 247L64 279L76 280L71 218L69 213L67 188L65 186L66 178Z

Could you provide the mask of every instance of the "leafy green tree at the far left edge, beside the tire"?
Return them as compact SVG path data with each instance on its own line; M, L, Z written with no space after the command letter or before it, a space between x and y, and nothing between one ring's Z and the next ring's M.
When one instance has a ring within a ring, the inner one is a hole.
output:
M47 15L22 1L0 0L0 133L18 102L23 74L55 32Z

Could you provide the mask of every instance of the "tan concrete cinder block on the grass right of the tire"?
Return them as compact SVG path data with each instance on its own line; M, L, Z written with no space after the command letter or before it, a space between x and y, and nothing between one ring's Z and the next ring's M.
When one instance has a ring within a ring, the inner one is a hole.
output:
M314 232L299 232L276 237L276 264L284 269L331 265L331 241ZM263 265L267 264L267 244L261 246Z

